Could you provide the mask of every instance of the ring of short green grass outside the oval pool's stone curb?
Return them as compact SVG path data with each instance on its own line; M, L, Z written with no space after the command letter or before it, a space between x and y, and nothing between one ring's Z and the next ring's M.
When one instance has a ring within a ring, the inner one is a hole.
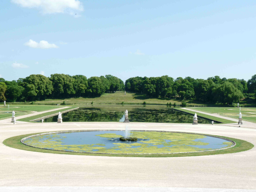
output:
M64 152L64 151L54 151L54 150L46 150L46 149L40 149L35 147L30 147L27 145L24 145L20 142L20 140L24 137L35 135L39 133L33 133L33 134L26 134L26 135L18 135L14 137L7 138L3 141L3 144L20 149L20 150L26 150L26 151L33 151L33 152L41 152L41 153L56 153L56 154L66 154L66 155L91 155L91 156L112 156L112 157L186 157L186 156L201 156L201 155L217 155L217 154L227 154L227 153L237 153L241 151L247 151L253 148L253 144L236 139L236 138L230 138L230 137L224 137L223 138L230 139L234 142L236 142L236 146L224 149L224 150L218 150L218 151L207 151L207 152L198 152L198 153L179 153L179 154L92 154L92 153L77 153L77 152ZM217 136L217 135L214 135Z

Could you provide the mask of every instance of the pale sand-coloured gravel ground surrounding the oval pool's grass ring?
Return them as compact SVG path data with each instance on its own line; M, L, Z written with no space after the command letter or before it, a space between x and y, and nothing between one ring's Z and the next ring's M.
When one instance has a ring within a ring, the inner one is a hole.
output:
M256 126L247 128L172 123L129 123L129 126L131 129L222 135L246 140L256 145ZM125 124L80 122L0 125L0 186L2 186L0 190L4 190L4 186L172 187L172 189L177 187L181 189L180 191L192 191L185 190L189 188L197 188L198 191L206 190L204 188L210 188L211 191L214 188L223 191L256 189L255 147L249 151L223 155L143 158L39 153L18 150L3 144L3 140L16 135L81 129L125 129ZM74 191L74 188L71 191Z

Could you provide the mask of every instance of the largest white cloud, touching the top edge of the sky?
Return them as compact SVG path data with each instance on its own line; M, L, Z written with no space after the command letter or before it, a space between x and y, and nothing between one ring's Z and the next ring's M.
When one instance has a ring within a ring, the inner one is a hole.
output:
M71 15L74 10L82 11L83 5L78 0L12 0L22 7L38 8L44 14L50 13L69 13Z

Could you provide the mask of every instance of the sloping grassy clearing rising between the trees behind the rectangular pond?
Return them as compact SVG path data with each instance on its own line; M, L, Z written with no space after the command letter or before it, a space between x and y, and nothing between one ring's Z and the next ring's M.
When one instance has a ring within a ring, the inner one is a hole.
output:
M146 104L162 104L166 105L166 103L171 103L172 105L176 103L180 105L183 101L185 101L188 105L207 105L198 101L189 101L189 100L180 100L180 99L168 99L168 98L151 98L145 94L126 92L124 95L124 91L116 91L115 93L104 93L101 97L93 97L93 98L69 98L69 99L46 99L43 101L34 101L35 104L61 104L65 101L66 104L143 104L145 101ZM18 102L17 102L18 103ZM25 104L19 102L20 104ZM214 104L211 104L214 105Z

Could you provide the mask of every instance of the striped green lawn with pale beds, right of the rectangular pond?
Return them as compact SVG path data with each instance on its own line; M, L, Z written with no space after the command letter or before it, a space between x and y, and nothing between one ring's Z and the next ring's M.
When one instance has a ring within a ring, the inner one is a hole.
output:
M191 108L198 111L203 111L207 113L218 113L222 116L238 119L239 117L239 108L230 108L230 107L195 107ZM241 107L242 119L245 121L255 122L256 123L256 108L245 108Z

